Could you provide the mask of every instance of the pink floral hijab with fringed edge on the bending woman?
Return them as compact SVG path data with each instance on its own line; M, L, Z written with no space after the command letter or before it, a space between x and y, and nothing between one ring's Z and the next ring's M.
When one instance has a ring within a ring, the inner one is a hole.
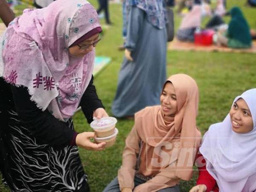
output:
M25 9L0 38L0 77L28 88L43 111L67 121L79 105L93 71L95 50L71 57L68 47L99 28L86 0L58 0L44 9Z

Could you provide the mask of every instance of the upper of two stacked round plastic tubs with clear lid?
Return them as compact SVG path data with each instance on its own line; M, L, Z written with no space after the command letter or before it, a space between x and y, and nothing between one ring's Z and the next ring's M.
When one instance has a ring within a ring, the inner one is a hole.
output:
M116 118L106 116L95 119L90 123L90 126L95 131L96 137L108 137L114 134L116 122Z

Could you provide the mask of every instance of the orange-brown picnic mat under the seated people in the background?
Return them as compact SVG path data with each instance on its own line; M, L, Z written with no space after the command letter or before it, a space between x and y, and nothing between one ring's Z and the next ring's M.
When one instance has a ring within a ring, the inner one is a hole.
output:
M168 43L169 50L175 51L203 51L203 52L248 52L256 53L256 41L253 41L253 46L250 49L232 49L229 47L218 47L216 45L201 46L191 42L181 42L174 38Z

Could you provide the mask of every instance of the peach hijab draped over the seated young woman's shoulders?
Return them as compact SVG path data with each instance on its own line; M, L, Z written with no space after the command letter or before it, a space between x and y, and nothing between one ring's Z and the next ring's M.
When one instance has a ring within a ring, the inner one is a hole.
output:
M164 117L161 106L148 107L135 114L135 128L146 144L140 166L151 170L148 172L150 175L175 175L189 180L201 142L201 133L196 127L198 86L194 79L185 74L170 76L167 82L173 84L177 96L175 116L168 119ZM152 160L166 163L155 166Z

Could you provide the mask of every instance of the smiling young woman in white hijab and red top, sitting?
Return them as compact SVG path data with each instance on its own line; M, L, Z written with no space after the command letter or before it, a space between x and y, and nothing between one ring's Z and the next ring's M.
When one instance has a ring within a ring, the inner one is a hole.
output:
M204 134L197 185L189 192L256 191L256 89L233 101L223 122Z

